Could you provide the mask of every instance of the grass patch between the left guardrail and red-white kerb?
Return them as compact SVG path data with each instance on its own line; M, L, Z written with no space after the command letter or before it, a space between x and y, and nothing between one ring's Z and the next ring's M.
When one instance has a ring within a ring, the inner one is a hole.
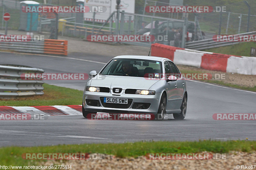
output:
M81 105L83 91L55 85L44 84L44 95L19 97L15 99L0 99L0 106L54 106Z

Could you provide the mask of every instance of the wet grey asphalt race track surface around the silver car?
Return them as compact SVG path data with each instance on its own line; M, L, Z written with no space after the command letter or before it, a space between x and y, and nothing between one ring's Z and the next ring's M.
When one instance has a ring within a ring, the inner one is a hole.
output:
M91 70L99 71L104 66L103 63L111 59L78 53L69 54L69 57L76 59L0 53L0 64L27 65L42 68L45 73L89 73ZM45 80L45 83L83 90L86 81ZM185 120L96 121L74 115L50 116L47 120L1 121L0 146L123 143L142 140L256 140L255 121L217 121L212 118L214 113L255 113L256 93L196 81L187 81L187 89L188 110Z

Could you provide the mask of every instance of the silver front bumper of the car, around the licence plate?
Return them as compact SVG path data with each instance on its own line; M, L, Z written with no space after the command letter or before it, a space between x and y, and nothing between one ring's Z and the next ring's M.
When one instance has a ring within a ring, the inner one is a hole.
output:
M159 103L161 99L161 93L156 93L155 95L140 95L140 94L125 94L121 93L120 96L112 95L111 92L88 92L84 91L83 95L83 105L85 111L91 112L104 112L104 113L125 113L125 114L154 114L156 115ZM132 103L129 108L111 108L103 107L100 97L110 97L110 98L123 98L123 99L132 99ZM86 99L90 100L99 100L100 106L88 106L86 104ZM134 103L150 103L148 109L133 109L132 106Z

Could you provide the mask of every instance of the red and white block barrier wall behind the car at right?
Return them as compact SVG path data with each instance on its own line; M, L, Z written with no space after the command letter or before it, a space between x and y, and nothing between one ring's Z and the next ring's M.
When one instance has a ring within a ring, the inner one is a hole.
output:
M151 55L169 58L175 64L195 66L206 70L256 75L256 57L210 53L158 43L152 44Z

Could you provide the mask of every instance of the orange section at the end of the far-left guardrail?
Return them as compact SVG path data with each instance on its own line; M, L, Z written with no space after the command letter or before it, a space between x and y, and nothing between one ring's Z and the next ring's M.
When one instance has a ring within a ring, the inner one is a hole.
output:
M59 54L68 55L68 41L67 40L44 40L45 54Z

